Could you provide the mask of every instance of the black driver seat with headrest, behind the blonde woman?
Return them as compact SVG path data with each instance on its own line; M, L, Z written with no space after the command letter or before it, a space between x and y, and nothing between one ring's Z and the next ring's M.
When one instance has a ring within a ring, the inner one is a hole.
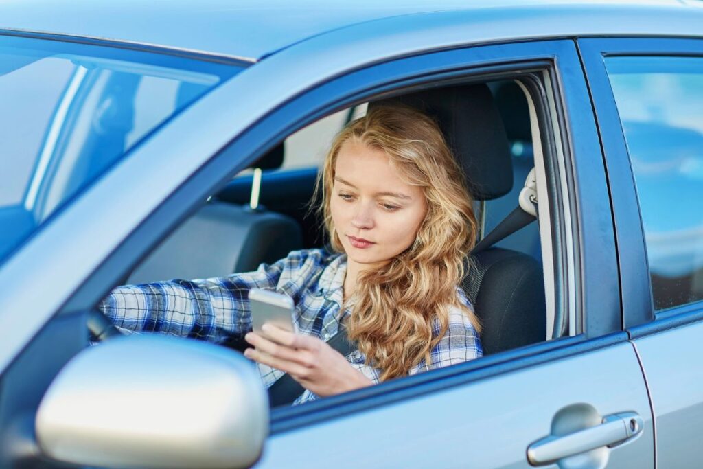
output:
M475 200L512 188L512 162L503 120L486 84L446 86L370 103L403 103L437 121L464 170ZM541 263L523 252L484 246L466 259L461 287L482 323L484 354L546 340Z

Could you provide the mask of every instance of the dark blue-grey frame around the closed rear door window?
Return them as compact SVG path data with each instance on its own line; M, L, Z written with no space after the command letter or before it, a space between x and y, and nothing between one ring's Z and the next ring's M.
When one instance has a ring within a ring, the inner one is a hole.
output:
M699 57L703 39L586 38L578 39L603 148L617 237L624 328L631 338L703 319L703 301L655 312L645 231L635 175L619 117L605 57Z

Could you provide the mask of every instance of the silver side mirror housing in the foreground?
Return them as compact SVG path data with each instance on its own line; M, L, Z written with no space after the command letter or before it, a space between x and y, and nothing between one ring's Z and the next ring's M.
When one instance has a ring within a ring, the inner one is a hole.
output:
M78 465L248 468L269 425L256 368L224 347L133 335L77 354L41 400L42 453Z

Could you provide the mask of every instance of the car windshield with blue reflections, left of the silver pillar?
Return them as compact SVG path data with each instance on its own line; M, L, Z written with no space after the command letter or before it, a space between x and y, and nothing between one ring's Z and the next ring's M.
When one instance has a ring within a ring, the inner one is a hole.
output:
M146 135L239 70L0 36L0 263Z

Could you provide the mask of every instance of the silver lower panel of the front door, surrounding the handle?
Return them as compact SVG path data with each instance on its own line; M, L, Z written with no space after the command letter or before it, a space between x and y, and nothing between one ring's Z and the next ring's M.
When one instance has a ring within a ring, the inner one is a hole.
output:
M573 404L639 413L642 436L610 450L607 467L654 467L647 391L628 343L273 435L254 467L530 468L527 446Z

